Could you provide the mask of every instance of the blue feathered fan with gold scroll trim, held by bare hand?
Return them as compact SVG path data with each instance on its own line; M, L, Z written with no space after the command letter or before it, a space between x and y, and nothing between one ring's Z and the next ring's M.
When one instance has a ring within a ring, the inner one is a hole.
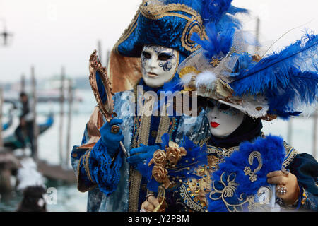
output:
M253 211L269 203L257 194L264 189L271 193L266 174L280 170L285 157L283 139L278 136L257 138L254 143L244 142L240 150L225 157L225 162L213 172L208 211ZM275 192L275 191L273 191Z

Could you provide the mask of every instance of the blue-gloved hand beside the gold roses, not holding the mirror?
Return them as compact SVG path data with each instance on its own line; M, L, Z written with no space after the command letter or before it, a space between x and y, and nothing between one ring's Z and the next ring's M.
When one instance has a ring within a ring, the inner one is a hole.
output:
M136 167L137 164L144 160L150 160L153 157L153 153L160 149L158 145L147 146L141 144L139 148L132 148L130 150L130 157L127 157L127 162Z

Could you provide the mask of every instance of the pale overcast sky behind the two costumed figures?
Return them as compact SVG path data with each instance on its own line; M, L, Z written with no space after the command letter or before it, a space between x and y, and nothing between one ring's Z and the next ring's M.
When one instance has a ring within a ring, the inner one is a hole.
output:
M0 46L0 83L30 77L49 78L65 66L68 76L88 76L88 59L98 40L102 57L111 49L134 17L141 0L0 0L0 32L4 20L13 32L10 46ZM317 33L317 0L234 0L234 6L252 14L246 28L261 19L261 37L275 41L291 28L273 50L294 42L304 28ZM306 25L305 25L306 24Z

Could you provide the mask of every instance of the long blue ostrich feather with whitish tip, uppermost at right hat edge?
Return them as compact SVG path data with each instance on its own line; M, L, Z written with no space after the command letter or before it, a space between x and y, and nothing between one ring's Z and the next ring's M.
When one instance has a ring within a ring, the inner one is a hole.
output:
M317 74L317 44L317 35L306 34L302 40L285 47L279 53L273 52L269 57L261 59L258 63L250 61L251 64L248 66L241 66L235 81L230 85L235 89L236 95L247 93L257 95L264 93L268 88L273 90L284 89L293 79L293 76L305 78L305 75L301 74L300 71L308 71L308 61L310 62L309 71L314 68L316 69L314 73ZM312 74L312 78L317 82L317 76ZM295 87L295 90L297 90L297 87ZM307 96L307 93L304 93L304 95Z

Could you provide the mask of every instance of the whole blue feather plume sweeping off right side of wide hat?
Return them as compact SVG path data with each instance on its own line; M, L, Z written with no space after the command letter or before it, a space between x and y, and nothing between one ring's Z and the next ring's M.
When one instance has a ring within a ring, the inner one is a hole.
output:
M306 34L301 40L269 55L258 63L252 56L242 54L237 71L230 83L235 95L265 94L269 100L269 113L288 119L298 115L293 100L312 104L318 96L317 35Z

